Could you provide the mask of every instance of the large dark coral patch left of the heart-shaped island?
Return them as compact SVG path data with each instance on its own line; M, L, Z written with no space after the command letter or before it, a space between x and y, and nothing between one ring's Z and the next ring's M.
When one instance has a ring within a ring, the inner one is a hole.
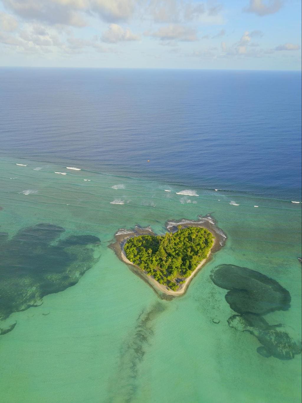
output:
M93 253L99 238L72 235L56 242L64 231L53 224L37 224L21 229L12 239L0 234L0 320L41 305L44 295L76 284L96 262Z

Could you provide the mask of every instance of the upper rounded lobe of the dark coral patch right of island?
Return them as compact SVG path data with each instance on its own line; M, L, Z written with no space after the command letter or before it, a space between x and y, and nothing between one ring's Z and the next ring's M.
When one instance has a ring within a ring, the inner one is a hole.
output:
M221 264L211 274L211 279L218 287L230 290L225 299L238 314L263 315L290 307L290 293L277 281L255 270Z

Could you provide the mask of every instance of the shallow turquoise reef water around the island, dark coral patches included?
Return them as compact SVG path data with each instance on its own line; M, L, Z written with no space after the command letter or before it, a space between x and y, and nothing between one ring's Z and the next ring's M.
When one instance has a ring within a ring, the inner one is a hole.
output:
M66 166L82 169L54 174ZM301 401L301 204L79 160L0 158L0 171L1 401ZM185 189L197 203L182 204ZM196 220L223 247L178 298L159 299L108 247L134 223L164 234Z

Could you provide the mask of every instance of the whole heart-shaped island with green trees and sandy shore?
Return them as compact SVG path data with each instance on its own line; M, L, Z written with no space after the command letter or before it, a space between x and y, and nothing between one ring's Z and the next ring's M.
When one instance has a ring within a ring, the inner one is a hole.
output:
M138 225L133 230L120 229L110 247L160 297L171 299L186 292L199 269L224 245L226 236L209 216L167 221L165 228L163 235Z

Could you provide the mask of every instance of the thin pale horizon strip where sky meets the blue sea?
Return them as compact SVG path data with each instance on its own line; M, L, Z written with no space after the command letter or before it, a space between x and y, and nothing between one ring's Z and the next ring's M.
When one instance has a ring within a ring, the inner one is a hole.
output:
M272 69L180 69L174 67L77 67L77 66L1 66L0 69L73 69L73 70L182 70L182 71L267 71L267 72L295 72L302 73L302 70L272 70Z

